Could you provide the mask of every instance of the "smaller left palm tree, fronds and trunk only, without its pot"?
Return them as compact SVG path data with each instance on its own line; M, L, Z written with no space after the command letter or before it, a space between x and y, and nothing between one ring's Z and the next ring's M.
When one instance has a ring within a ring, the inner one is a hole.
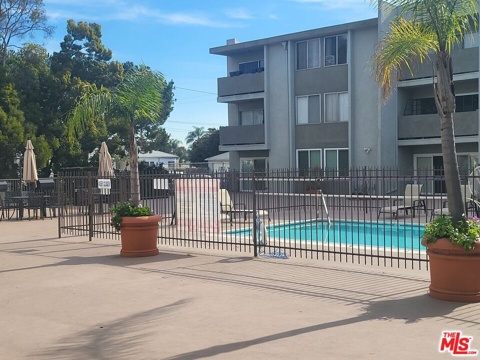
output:
M156 121L159 118L165 85L161 73L142 64L129 69L112 90L90 85L86 93L77 99L67 117L70 139L81 137L88 127L93 126L93 119L101 116L119 119L124 126L128 126L131 202L134 205L140 202L135 124L141 119Z

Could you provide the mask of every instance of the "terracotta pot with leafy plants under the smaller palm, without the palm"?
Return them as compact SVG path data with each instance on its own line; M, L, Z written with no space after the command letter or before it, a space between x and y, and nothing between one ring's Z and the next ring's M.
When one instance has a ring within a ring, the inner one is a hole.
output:
M160 215L151 212L148 206L117 202L110 208L111 226L120 231L120 255L126 257L153 256L156 247Z

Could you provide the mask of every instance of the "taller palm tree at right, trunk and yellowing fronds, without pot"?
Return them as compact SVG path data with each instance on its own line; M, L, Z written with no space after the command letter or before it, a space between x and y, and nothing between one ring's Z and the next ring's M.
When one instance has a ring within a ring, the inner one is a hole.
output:
M374 0L371 0L372 3ZM390 28L377 43L374 60L376 81L381 98L386 102L401 69L411 72L415 61L423 62L435 54L436 72L433 94L440 116L441 150L443 154L448 209L453 223L465 215L461 198L460 176L453 133L455 92L452 76L451 49L463 36L472 36L477 27L475 6L479 0L388 0L378 2L382 10L395 11Z

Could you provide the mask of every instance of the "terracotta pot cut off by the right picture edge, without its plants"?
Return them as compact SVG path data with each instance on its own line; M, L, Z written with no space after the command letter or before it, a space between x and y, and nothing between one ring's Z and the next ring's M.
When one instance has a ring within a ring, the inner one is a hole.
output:
M447 238L422 244L430 260L430 296L439 300L480 302L480 241L466 251Z

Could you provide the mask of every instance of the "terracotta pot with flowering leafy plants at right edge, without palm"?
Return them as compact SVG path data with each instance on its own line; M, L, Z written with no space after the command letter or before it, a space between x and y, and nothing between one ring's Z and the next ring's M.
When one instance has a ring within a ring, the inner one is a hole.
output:
M425 224L421 243L430 260L430 296L458 302L480 301L480 220L453 225L451 216Z

